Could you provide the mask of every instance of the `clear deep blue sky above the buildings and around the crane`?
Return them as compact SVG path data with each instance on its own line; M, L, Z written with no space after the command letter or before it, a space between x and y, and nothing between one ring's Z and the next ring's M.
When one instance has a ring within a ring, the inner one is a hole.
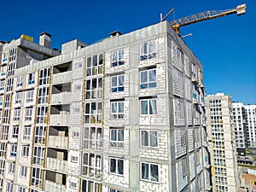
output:
M206 10L236 8L247 3L246 15L228 15L181 28L181 34L204 67L207 94L224 92L233 101L256 103L256 1L254 0L12 0L1 2L0 39L21 34L52 34L52 48L78 38L87 44L159 22L160 13L175 11L168 20Z

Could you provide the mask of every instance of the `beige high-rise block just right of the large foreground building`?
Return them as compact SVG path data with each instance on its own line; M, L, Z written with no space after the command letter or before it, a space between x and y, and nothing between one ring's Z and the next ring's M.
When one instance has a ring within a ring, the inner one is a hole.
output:
M236 140L232 101L223 93L205 97L213 191L237 191Z

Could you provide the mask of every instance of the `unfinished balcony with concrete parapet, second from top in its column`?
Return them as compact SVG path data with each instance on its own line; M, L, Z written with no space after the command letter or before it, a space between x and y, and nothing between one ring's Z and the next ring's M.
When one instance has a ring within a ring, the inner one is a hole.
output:
M71 83L52 86L51 104L70 103Z

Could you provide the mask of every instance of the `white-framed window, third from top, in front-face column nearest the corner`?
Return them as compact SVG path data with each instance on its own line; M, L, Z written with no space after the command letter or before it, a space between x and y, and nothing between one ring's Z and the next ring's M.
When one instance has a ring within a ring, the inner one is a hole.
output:
M146 107L143 107L143 104L146 103ZM151 108L150 108L151 106ZM141 99L140 100L140 108L141 108L141 115L155 115L157 114L157 101L156 98L152 99ZM146 110L143 112L143 109ZM151 109L151 110L150 110ZM151 112L150 112L151 111Z

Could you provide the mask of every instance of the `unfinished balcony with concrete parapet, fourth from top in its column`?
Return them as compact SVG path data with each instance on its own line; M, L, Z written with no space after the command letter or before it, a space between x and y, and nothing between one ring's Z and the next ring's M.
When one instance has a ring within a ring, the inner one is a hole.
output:
M67 140L67 126L49 126L48 146L50 148L67 148Z

